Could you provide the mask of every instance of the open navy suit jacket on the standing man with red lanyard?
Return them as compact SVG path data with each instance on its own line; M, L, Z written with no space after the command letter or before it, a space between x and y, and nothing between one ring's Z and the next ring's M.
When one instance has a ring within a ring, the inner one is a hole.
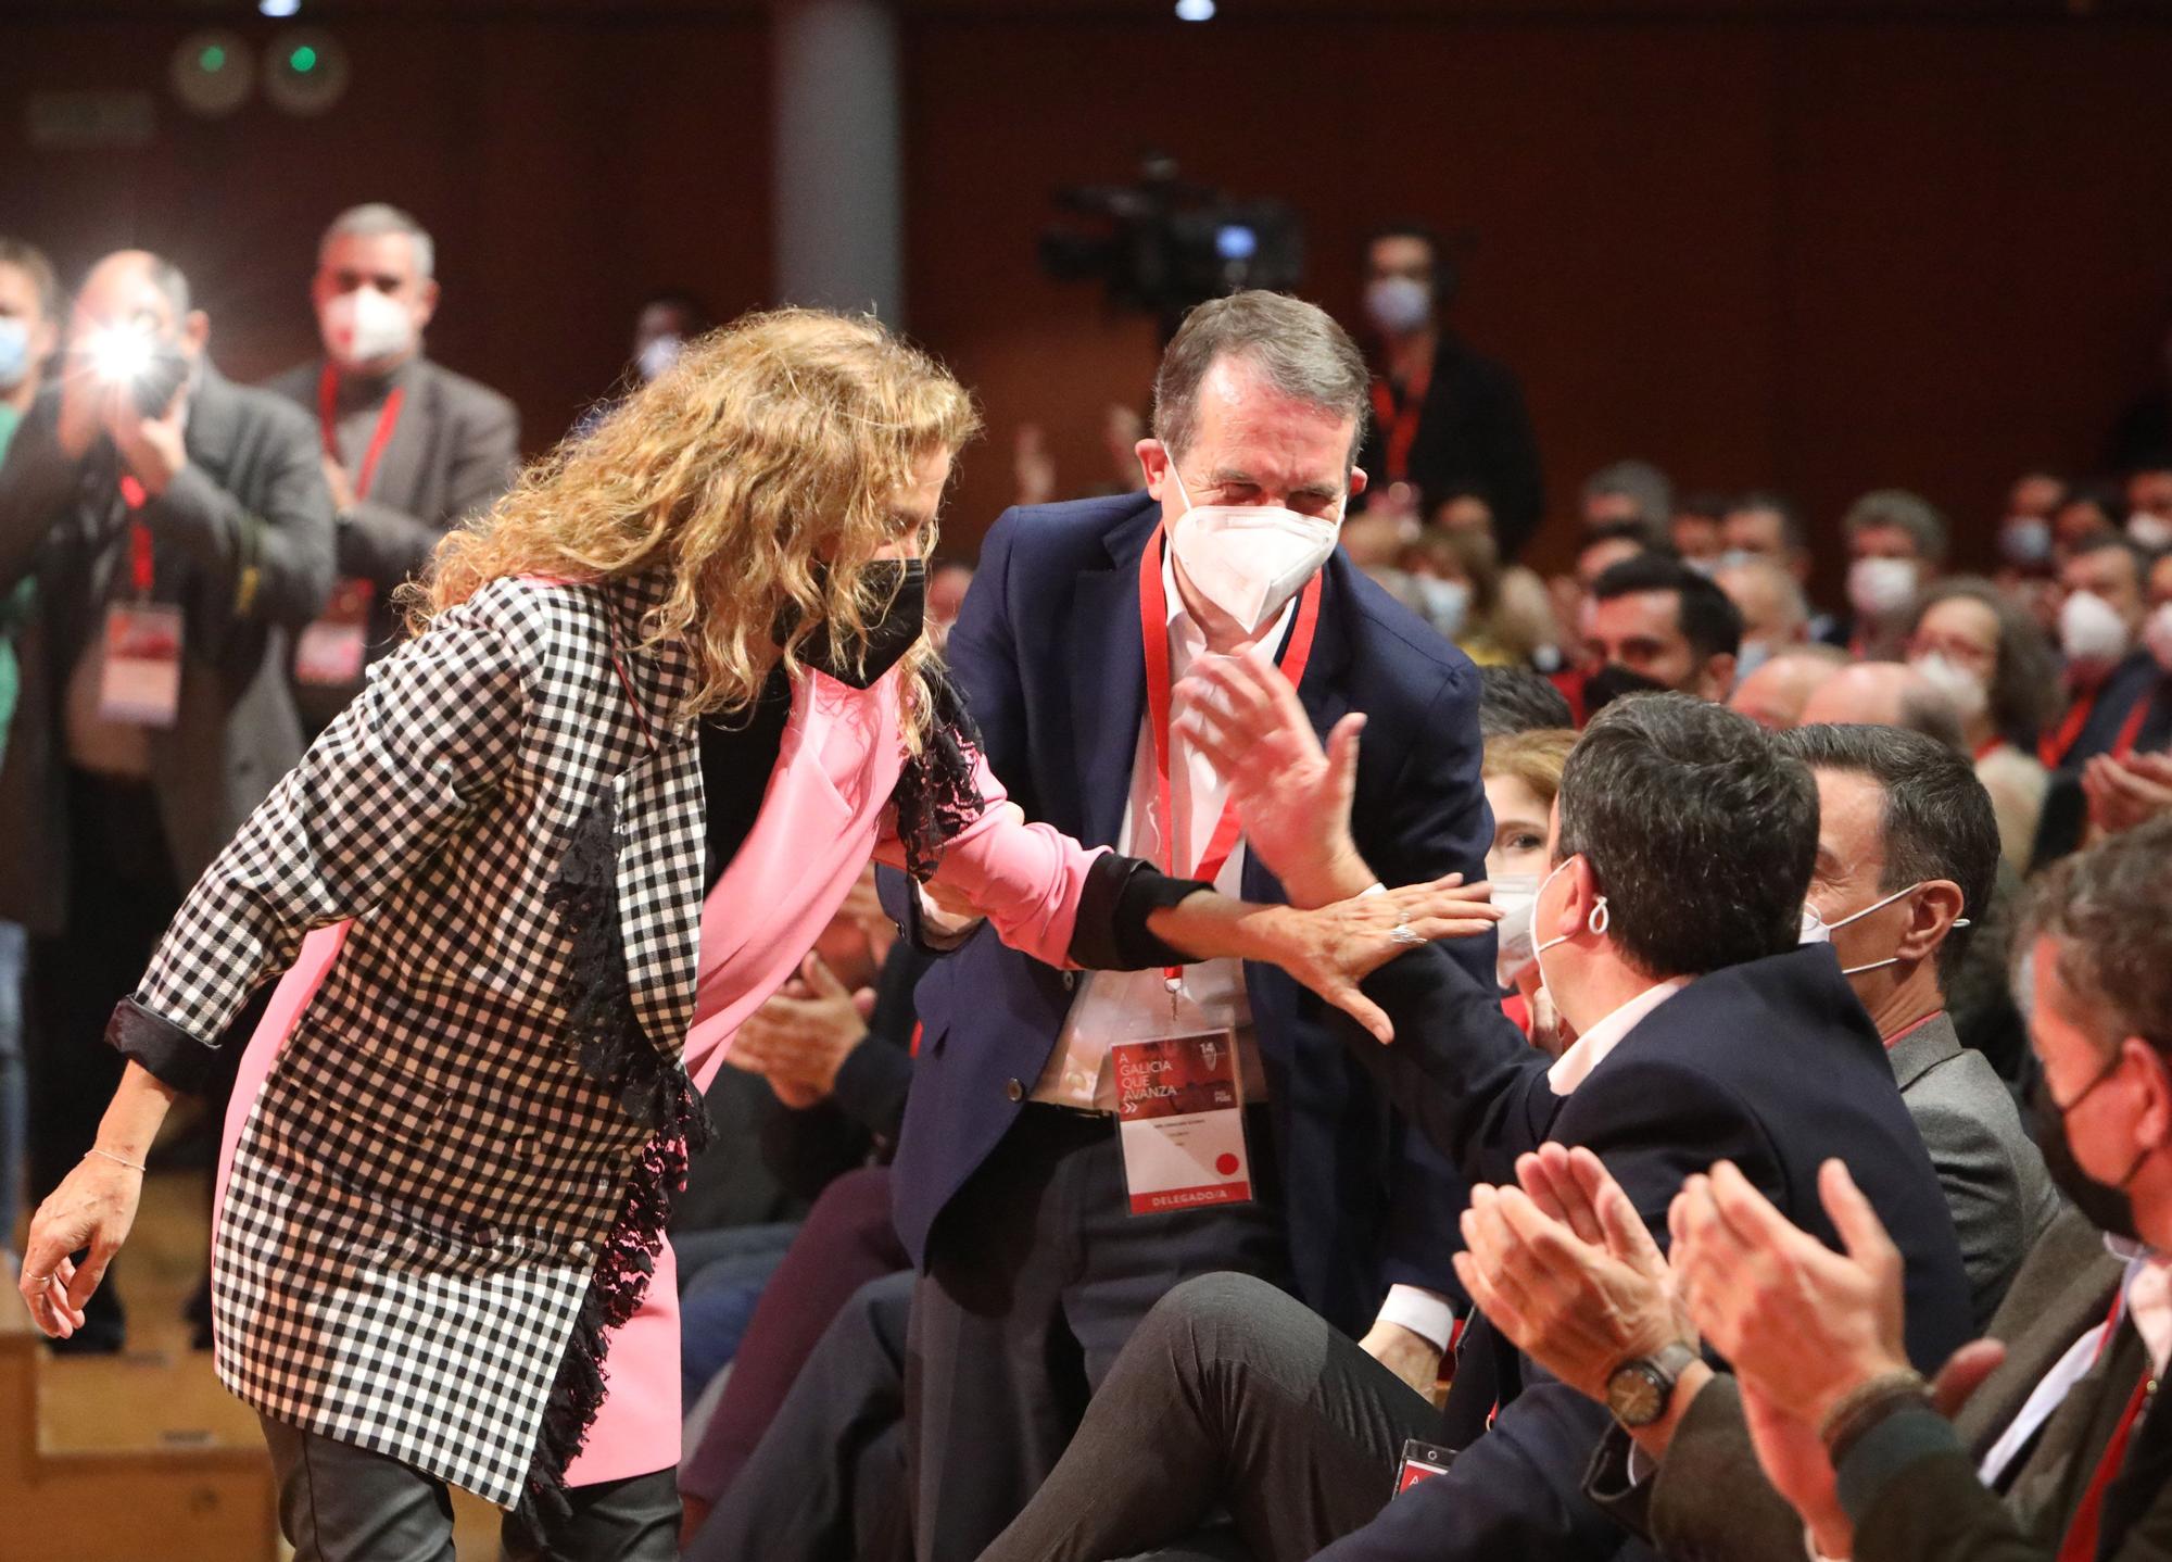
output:
M1086 845L1114 845L1123 828L1147 700L1138 560L1158 524L1145 493L1008 511L982 543L949 639L988 765L1027 819ZM1358 845L1390 884L1483 876L1492 815L1477 669L1340 550L1323 569L1299 697L1323 734L1344 713L1366 713ZM1255 860L1242 889L1253 902L1284 899ZM1492 982L1492 939L1457 945L1455 958ZM1355 1330L1390 1284L1451 1290L1460 1175L1392 1119L1312 993L1271 967L1251 967L1247 988L1299 1295ZM897 1234L917 1264L943 1206L1032 1093L1075 991L1075 975L1006 949L986 928L921 982L921 1054L893 1182Z

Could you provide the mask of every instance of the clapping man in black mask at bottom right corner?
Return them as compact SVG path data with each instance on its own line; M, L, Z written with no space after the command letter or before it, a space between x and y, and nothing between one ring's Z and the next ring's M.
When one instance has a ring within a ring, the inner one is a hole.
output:
M1731 1167L1694 1177L1677 1201L1690 1319L1733 1360L1759 1462L1822 1555L2165 1555L2172 1416L2155 1388L2172 1362L2168 854L2172 823L2157 823L2061 862L2022 930L2046 1160L2076 1208L2135 1254L2098 1338L2076 1340L2022 1412L2050 1416L2044 1443L2079 1443L2059 1501L2037 1512L2003 1501L1990 1460L1979 1464L1901 1362L1892 1243L1842 1169L1822 1177L1846 1254L1807 1240ZM1963 1366L1981 1373L1992 1356Z

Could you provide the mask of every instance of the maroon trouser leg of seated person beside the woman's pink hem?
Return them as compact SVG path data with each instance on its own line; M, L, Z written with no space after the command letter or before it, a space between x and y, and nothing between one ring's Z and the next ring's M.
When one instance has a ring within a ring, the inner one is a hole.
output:
M801 1369L825 1349L819 1340L828 1334L830 1321L869 1280L895 1275L906 1267L906 1249L891 1223L888 1167L847 1171L823 1188L754 1308L738 1356L732 1358L723 1399L717 1401L717 1414L702 1432L699 1447L691 1449L680 1466L680 1490L710 1503L730 1490L769 1427L782 1419L786 1395L799 1382ZM901 1321L891 1377L895 1380L891 1393L901 1395Z

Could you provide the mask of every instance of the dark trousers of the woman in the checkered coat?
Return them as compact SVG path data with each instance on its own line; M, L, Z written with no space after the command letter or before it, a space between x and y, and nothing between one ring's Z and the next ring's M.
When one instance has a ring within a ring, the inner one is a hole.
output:
M278 1479L278 1523L295 1562L454 1562L452 1492L384 1453L258 1416ZM573 1519L547 1542L506 1516L500 1562L669 1562L678 1475L576 1486Z

